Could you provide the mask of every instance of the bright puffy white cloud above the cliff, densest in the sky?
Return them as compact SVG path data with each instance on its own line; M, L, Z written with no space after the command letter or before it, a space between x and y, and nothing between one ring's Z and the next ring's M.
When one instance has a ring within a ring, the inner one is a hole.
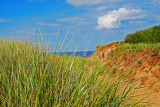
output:
M121 20L139 18L139 16L137 16L139 13L141 13L141 10L126 8L120 8L119 10L110 11L108 12L108 14L98 17L98 26L96 28L118 28L121 24Z

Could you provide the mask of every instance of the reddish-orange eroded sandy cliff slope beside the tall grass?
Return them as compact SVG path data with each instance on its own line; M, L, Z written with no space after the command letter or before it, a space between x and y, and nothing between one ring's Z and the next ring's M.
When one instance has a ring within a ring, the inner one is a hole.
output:
M156 103L160 106L160 49L151 52L145 48L141 51L130 52L125 50L121 53L117 48L121 43L111 43L103 47L97 47L94 53L88 57L91 60L98 60L113 75L126 74L124 80L138 81L138 86L144 88L137 89L135 95L143 96L152 93L145 101ZM153 105L152 105L153 106Z

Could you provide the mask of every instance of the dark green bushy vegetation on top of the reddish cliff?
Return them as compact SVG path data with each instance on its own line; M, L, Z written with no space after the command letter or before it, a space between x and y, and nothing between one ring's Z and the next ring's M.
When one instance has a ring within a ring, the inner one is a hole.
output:
M128 34L126 43L160 43L160 25Z

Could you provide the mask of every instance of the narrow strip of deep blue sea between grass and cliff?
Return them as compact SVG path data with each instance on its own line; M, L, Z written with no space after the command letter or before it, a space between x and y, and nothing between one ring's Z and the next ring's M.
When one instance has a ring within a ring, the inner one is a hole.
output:
M88 56L90 56L94 51L78 51L78 52L61 52L60 55L68 55L68 56L80 56L80 57L84 57L87 58Z

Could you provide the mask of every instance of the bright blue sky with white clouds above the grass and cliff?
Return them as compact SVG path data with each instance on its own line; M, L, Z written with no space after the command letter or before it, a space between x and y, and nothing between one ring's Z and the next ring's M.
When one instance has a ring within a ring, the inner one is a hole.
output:
M0 0L0 37L93 51L160 24L160 0Z

